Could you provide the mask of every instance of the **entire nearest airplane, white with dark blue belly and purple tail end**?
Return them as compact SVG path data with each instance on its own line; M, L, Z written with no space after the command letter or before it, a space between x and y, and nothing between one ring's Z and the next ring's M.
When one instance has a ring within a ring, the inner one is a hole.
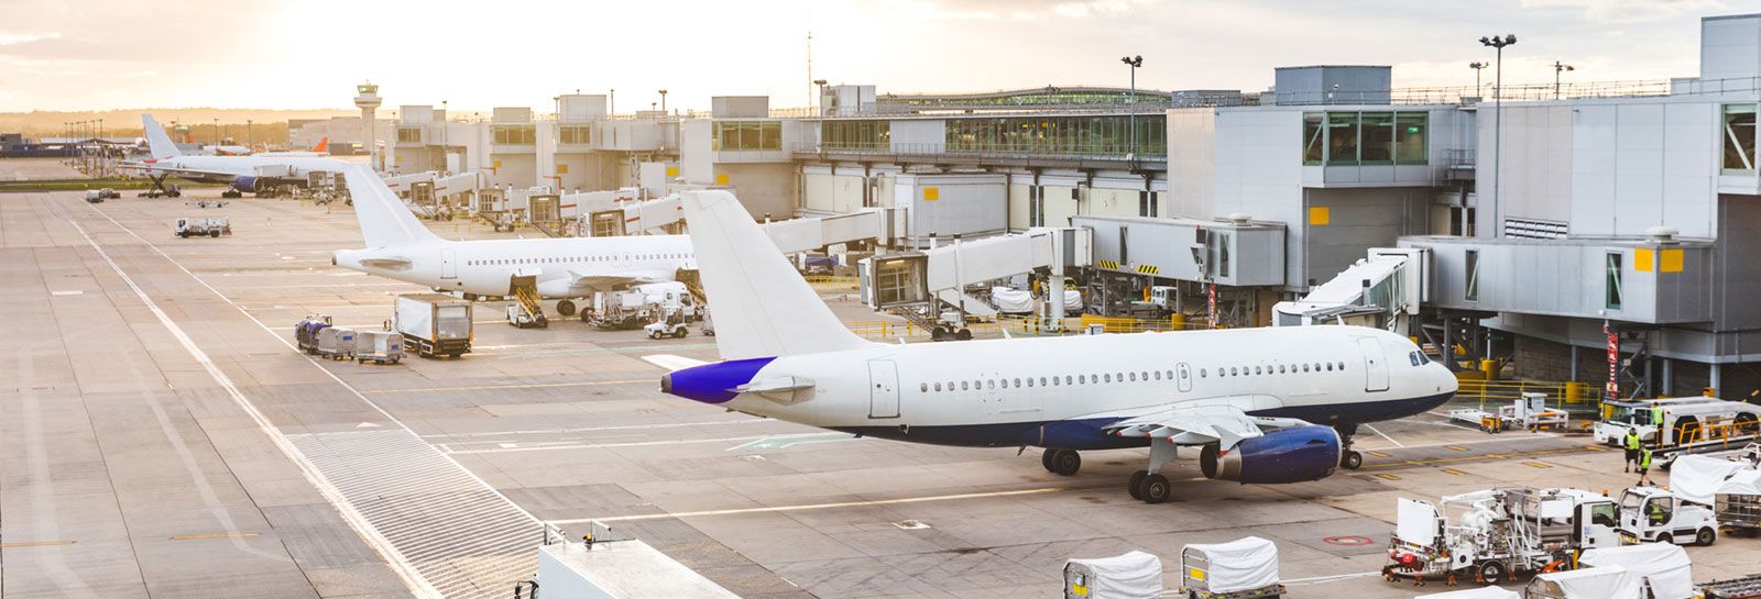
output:
M722 362L648 357L660 390L755 416L896 441L1037 446L1076 474L1083 450L1150 446L1132 497L1199 448L1205 476L1296 483L1363 462L1359 423L1449 401L1455 376L1412 341L1363 327L1146 332L882 344L856 337L727 191L689 191L685 221Z

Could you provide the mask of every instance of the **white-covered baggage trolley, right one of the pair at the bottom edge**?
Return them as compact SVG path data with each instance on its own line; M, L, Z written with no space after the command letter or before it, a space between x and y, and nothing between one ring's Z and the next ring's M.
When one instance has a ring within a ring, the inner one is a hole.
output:
M1250 536L1180 550L1180 592L1189 599L1282 597L1278 546Z

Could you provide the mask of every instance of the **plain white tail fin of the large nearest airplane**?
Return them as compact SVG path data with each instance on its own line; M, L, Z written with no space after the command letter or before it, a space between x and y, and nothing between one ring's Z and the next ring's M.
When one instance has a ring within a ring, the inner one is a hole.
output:
M722 360L868 346L826 307L733 193L687 191L685 223Z

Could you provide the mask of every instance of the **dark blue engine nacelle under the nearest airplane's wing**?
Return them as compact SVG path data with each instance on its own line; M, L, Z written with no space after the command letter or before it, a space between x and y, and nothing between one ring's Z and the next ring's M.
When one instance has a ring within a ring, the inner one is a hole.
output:
M1271 430L1242 441L1229 453L1206 444L1199 453L1205 478L1252 485L1323 480L1338 469L1340 441L1333 427Z

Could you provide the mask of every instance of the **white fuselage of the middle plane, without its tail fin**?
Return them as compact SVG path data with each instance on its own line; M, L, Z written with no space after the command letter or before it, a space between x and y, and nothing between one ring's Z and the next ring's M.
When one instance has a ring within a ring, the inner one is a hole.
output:
M532 274L548 299L585 297L632 276L671 281L680 269L697 267L687 235L438 241L345 249L335 263L472 295L511 295L509 281Z

